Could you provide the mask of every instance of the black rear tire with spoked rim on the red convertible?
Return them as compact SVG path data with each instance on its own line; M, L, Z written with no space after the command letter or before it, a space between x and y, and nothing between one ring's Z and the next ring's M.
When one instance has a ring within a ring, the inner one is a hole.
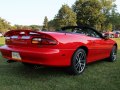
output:
M81 74L86 67L86 52L84 49L78 49L71 60L70 72L73 75Z

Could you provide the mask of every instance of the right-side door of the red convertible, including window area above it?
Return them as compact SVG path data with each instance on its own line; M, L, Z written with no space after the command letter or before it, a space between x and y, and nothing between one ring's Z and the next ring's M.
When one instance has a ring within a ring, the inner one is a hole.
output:
M89 59L90 61L95 61L103 59L109 56L110 52L110 41L103 39L98 32L91 28L86 28L89 47Z

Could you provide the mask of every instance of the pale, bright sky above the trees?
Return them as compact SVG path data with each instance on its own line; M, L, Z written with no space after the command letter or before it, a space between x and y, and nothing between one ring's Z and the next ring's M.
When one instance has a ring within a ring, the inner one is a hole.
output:
M0 0L0 17L11 25L42 25L44 17L54 18L63 4L70 7L76 0ZM116 0L120 13L120 0Z

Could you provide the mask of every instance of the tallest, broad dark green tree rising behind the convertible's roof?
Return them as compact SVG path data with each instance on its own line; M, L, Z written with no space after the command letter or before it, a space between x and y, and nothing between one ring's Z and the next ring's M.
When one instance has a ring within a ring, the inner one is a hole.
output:
M94 27L103 23L105 17L101 9L101 3L98 0L77 0L73 5L73 10L77 14L77 24Z

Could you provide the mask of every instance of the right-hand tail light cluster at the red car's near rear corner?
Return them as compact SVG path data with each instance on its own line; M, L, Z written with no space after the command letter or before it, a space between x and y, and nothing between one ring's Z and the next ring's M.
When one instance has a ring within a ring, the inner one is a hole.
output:
M40 45L56 45L57 41L49 38L33 38L32 44L40 44Z

